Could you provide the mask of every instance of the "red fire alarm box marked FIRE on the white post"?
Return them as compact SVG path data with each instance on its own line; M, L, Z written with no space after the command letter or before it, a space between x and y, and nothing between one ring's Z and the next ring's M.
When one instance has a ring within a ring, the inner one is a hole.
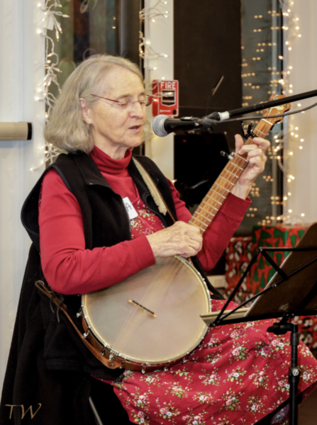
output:
M154 101L152 103L152 114L164 114L170 116L178 115L178 81L152 81L152 94Z

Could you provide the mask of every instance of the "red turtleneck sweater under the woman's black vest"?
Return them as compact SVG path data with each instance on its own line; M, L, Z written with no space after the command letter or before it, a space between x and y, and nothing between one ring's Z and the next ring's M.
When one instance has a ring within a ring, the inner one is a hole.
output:
M82 212L55 170L43 179L39 200L40 252L43 273L57 293L90 293L121 282L155 263L146 234L162 229L162 223L146 208L128 173L130 149L123 159L111 159L94 147L94 159L113 191L133 203L138 217L131 220L132 238L114 246L85 249ZM188 222L191 213L169 181L178 220ZM204 246L198 254L206 270L211 270L240 225L250 200L230 194L204 233Z

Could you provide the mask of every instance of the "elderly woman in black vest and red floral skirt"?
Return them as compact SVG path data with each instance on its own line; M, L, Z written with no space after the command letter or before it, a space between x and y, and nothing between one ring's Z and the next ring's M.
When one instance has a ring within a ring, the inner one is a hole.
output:
M236 152L248 154L249 165L202 237L188 224L191 214L172 183L150 159L138 157L174 216L173 223L158 209L131 159L133 147L143 142L149 102L135 64L97 55L66 81L45 130L46 140L68 154L60 155L33 189L23 208L23 222L40 251L43 278L55 293L64 295L72 317L80 303L74 295L116 285L152 266L157 257L191 257L201 273L211 269L243 219L252 183L265 167L269 142L255 138L254 145L244 146L237 135ZM130 217L123 198L133 210ZM221 295L208 285L213 309L219 309ZM46 368L86 373L86 379L98 378L99 385L105 381L105 392L113 385L133 423L286 421L289 343L284 336L267 334L269 322L208 331L187 363L143 374L97 365L61 316L60 322L55 312L47 322L43 319ZM303 345L300 358L302 369L309 370L300 390L308 389L308 394L316 381L317 363ZM278 409L281 406L284 409Z

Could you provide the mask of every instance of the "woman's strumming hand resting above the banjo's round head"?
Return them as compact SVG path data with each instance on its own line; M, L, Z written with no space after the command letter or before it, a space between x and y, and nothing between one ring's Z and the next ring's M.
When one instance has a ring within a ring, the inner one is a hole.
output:
M201 250L203 237L199 228L178 221L174 225L147 235L155 257L194 256Z

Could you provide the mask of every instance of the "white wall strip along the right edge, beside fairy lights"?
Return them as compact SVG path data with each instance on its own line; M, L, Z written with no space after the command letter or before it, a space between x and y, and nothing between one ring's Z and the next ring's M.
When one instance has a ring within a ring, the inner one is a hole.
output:
M292 69L289 81L293 84L293 93L287 91L287 96L317 89L317 1L295 0L292 8L295 17L299 18L296 22L301 38L296 37L290 42L289 66ZM304 107L314 102L317 97L300 103ZM292 109L296 108L293 104ZM289 133L299 127L294 131L299 137L290 136L286 155L289 174L295 177L284 191L285 194L291 192L287 210L292 210L291 217L301 217L304 213L304 222L314 222L317 221L317 108L293 117L289 118ZM302 138L304 143L299 141ZM299 149L300 145L303 149Z

